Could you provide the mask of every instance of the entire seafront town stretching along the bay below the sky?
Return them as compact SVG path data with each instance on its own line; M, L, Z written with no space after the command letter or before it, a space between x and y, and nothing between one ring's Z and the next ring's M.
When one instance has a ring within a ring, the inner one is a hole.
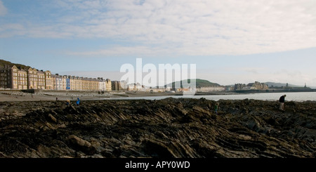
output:
M168 84L164 88L152 88L140 84L129 84L126 89L121 87L120 81L111 81L103 77L88 78L70 75L51 74L49 70L37 70L25 65L15 65L1 60L0 64L0 89L1 90L55 90L55 91L146 91L146 92L181 92L190 88L174 88ZM269 91L278 89L310 89L306 86L294 88L287 86L268 86L265 83L255 81L249 84L235 84L232 86L220 86L206 80L197 79L197 93L218 91ZM201 84L203 83L203 84Z

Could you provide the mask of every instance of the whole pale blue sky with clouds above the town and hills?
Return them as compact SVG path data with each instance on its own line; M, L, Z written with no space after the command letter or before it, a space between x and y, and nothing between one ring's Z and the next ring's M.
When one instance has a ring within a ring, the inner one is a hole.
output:
M316 86L315 0L0 0L0 59L119 80L124 64L195 64L220 85Z

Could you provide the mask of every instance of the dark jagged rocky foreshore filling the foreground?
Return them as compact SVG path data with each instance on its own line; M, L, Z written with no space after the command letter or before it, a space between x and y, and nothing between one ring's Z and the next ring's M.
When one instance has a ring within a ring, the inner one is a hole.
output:
M0 102L5 158L315 158L316 102Z

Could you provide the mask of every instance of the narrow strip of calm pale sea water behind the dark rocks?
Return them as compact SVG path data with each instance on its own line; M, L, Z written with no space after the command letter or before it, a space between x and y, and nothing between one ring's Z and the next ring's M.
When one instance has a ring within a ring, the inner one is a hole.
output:
M281 95L286 94L286 101L303 102L307 100L316 101L316 92L299 92L299 93L254 93L254 94L240 94L240 95L193 95L193 96L150 96L150 97L122 97L122 98L103 98L103 100L161 100L164 98L206 98L207 100L279 100Z

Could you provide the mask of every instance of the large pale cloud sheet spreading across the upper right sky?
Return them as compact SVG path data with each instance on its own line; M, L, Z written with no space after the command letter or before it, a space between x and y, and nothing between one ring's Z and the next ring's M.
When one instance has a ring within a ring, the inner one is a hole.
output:
M26 37L108 39L129 44L120 49L100 48L94 53L87 50L81 55L242 55L316 46L314 0L57 0L45 8L57 13L49 19L51 22L44 22L50 25L41 21L23 25L23 32L18 33ZM0 31L1 37L15 34L17 29Z

